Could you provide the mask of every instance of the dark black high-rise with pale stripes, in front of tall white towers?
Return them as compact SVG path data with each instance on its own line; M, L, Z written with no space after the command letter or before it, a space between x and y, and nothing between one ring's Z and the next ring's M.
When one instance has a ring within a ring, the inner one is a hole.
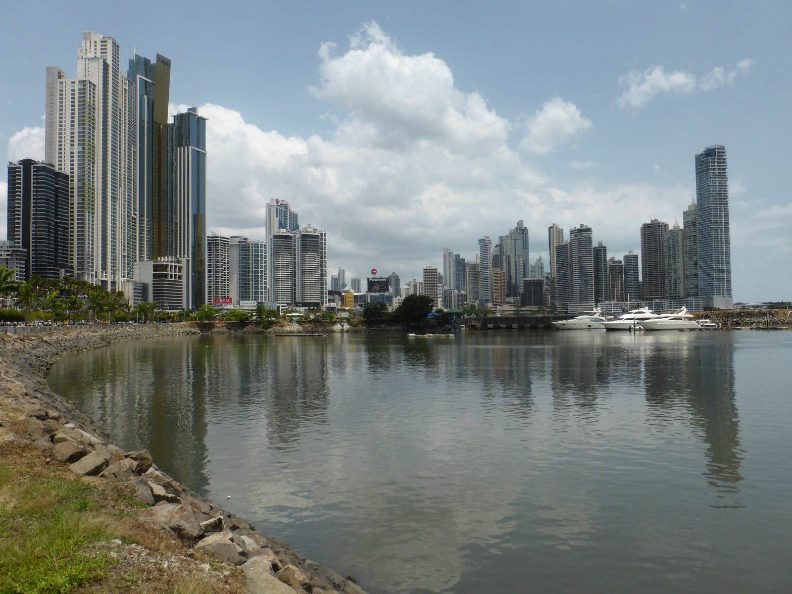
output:
M25 249L22 279L73 276L69 253L69 176L47 163L8 166L8 241Z

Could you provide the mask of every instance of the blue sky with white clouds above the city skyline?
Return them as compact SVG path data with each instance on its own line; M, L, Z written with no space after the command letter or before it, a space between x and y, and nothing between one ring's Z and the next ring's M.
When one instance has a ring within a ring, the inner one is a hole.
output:
M208 118L208 230L265 239L287 200L329 274L402 283L518 220L531 260L581 223L608 256L729 162L735 301L792 299L792 2L0 2L0 147L44 157L44 74L82 31L172 60ZM8 26L11 25L11 26ZM6 236L6 176L0 237Z

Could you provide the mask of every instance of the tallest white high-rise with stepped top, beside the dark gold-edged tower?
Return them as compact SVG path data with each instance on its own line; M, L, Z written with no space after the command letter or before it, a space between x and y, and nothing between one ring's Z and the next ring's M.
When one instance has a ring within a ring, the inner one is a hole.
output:
M112 37L82 33L77 75L48 67L44 159L69 174L70 253L79 279L117 290L134 277L134 86Z

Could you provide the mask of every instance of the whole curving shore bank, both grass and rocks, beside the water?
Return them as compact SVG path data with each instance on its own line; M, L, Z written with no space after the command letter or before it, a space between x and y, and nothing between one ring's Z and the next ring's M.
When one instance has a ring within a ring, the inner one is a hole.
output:
M365 594L113 444L47 384L63 356L198 332L0 334L0 592Z

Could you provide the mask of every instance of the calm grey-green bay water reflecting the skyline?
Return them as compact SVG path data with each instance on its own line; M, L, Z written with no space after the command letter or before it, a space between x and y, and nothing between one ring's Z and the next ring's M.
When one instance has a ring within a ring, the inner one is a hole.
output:
M372 593L787 594L790 363L789 332L236 335L50 383Z

